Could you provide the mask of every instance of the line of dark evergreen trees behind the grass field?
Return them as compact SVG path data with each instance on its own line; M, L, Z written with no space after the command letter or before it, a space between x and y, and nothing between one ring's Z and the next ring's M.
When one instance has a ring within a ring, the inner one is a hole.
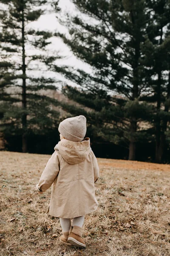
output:
M170 0L72 0L76 9L64 17L58 2L0 0L6 148L51 152L62 109L86 116L96 156L169 163ZM47 10L68 33L31 28ZM57 64L62 55L50 51L54 37L88 64L88 72ZM49 96L61 84L49 72L67 79L62 93L71 102Z

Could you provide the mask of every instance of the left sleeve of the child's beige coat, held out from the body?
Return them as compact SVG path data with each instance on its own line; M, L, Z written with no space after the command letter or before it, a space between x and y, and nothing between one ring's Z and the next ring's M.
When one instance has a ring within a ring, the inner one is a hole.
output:
M42 193L52 185L54 180L57 178L59 168L59 155L57 154L57 151L54 151L51 158L48 160L44 171L42 172L39 183L36 185L38 192Z

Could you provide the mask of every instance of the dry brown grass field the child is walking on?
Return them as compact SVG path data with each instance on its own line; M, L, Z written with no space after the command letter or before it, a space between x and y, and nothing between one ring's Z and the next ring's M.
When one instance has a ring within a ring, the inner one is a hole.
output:
M98 159L99 208L78 250L59 242L59 219L46 214L51 190L34 190L49 157L0 152L0 256L170 256L168 165Z

